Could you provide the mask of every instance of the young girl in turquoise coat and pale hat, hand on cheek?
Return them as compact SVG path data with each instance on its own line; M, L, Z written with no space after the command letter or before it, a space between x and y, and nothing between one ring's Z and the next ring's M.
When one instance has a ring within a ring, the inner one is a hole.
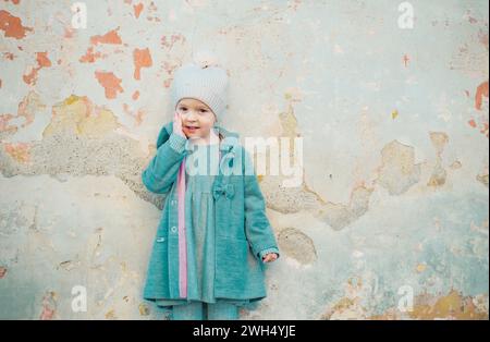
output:
M265 264L279 257L250 156L217 124L226 95L223 69L176 70L173 121L143 171L150 192L168 194L144 297L172 319L238 319L240 306L266 297Z

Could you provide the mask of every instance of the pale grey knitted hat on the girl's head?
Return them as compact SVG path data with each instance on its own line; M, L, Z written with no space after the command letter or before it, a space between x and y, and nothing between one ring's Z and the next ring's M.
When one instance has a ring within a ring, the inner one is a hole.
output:
M183 98L194 98L205 102L221 119L228 105L226 71L210 60L184 64L174 73L172 103L176 109Z

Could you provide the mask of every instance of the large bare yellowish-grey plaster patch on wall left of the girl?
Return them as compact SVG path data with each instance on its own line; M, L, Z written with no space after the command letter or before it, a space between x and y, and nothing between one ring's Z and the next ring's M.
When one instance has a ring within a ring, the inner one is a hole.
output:
M120 125L112 112L94 106L86 97L77 96L58 103L52 112L52 120L42 133L41 142L34 142L28 148L2 144L0 172L4 176L117 174L138 196L162 207L164 198L148 193L140 181L140 170L147 164L149 156L143 154L138 142L117 133ZM97 154L94 155L94 151ZM51 155L59 158L52 159L49 157ZM26 158L29 163L23 162Z

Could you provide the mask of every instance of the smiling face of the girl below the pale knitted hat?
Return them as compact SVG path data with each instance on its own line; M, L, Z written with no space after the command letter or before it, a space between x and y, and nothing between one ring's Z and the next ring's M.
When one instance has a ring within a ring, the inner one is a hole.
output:
M184 98L179 101L176 111L181 114L182 131L187 138L209 141L216 117L206 103L193 98Z

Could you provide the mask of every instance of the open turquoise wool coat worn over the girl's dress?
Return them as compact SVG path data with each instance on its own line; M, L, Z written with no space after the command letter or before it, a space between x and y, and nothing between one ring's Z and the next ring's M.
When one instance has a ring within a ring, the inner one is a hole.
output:
M238 134L220 126L224 136L220 171L212 193L216 207L217 298L249 300L267 296L266 269L261 257L279 247L249 154L238 143ZM166 124L157 139L156 156L143 171L143 184L156 194L167 194L148 265L144 298L179 300L179 222L176 175L188 154L186 139ZM184 146L185 145L185 146Z

